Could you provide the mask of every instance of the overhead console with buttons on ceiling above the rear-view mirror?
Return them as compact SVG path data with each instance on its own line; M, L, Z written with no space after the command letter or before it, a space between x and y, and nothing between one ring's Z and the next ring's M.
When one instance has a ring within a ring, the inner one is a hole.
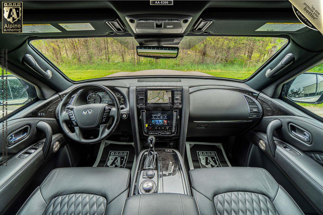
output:
M186 15L129 15L127 22L136 34L182 34L192 20Z

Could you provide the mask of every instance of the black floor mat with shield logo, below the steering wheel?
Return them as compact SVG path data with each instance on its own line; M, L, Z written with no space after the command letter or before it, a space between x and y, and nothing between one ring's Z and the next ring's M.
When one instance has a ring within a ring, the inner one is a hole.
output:
M132 169L135 149L131 144L110 143L103 148L98 167L120 167Z

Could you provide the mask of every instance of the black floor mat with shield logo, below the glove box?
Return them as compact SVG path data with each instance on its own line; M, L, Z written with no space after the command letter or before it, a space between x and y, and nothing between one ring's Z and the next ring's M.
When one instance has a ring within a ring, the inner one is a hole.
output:
M221 143L187 142L186 147L190 169L231 166Z

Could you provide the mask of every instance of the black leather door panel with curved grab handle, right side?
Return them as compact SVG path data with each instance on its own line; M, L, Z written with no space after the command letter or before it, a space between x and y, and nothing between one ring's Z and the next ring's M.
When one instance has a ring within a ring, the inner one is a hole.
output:
M281 121L282 127L273 132L276 150L272 156L270 144L273 143L267 141L267 128L274 120ZM302 136L306 132L309 141L292 131ZM318 198L323 196L323 165L319 162L323 154L323 123L300 116L264 117L245 137L259 148L259 141L263 140L266 149L262 151L285 172L316 210L323 213L321 198Z

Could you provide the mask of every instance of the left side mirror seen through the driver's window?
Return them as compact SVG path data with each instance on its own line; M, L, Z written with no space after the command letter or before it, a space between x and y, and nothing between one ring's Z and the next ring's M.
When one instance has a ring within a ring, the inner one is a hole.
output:
M8 86L6 92L1 92L1 105L5 101L7 105L22 105L28 101L28 85L23 84L20 78L14 75L7 76Z

